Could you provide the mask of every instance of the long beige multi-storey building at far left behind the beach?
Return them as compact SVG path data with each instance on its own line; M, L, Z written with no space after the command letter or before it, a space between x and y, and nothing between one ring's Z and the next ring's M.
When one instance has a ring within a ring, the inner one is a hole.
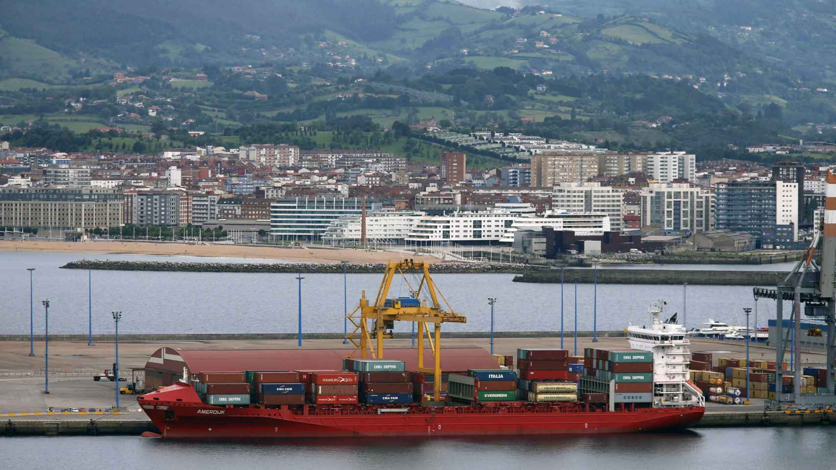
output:
M116 227L123 196L99 188L0 188L0 226L55 229Z

